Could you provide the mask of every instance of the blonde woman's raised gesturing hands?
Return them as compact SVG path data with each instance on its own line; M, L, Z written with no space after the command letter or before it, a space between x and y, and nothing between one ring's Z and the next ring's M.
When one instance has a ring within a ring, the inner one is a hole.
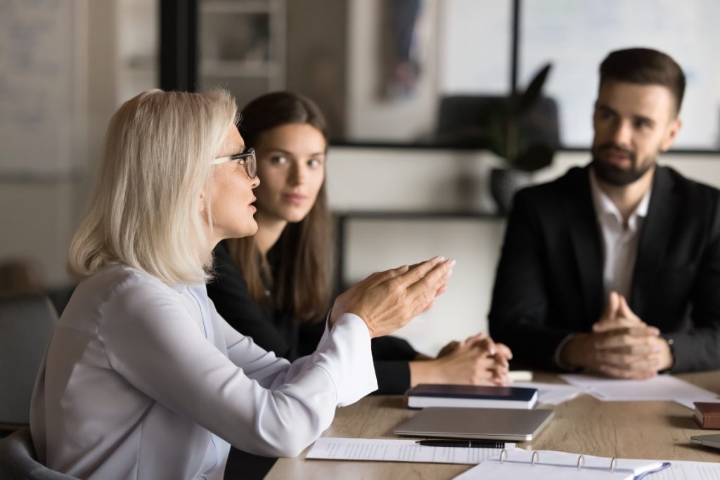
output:
M435 297L446 290L454 266L454 260L435 257L373 273L338 296L330 325L341 314L354 313L365 322L372 338L395 332L433 306Z

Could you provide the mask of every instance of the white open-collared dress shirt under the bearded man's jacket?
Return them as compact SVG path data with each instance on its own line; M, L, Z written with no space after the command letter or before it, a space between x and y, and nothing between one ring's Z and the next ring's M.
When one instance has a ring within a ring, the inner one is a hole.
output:
M590 170L590 191L593 195L595 215L603 237L603 290L607 299L611 291L630 298L632 289L632 276L637 258L637 244L642 230L642 224L647 217L647 207L650 204L652 188L642 197L630 217L627 227L618 207L608 197L595 178L595 172Z

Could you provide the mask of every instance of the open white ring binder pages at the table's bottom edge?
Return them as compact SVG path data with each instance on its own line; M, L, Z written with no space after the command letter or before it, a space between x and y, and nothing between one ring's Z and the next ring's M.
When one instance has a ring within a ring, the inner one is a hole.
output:
M501 459L502 457L502 459ZM495 458L470 468L456 480L640 480L663 470L669 462L605 458L552 450L504 450ZM651 480L648 477L647 480Z

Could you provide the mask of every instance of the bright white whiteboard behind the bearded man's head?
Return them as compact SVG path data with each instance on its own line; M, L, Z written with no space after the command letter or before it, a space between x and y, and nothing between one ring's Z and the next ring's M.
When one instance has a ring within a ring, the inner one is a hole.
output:
M559 103L562 143L588 147L598 68L612 50L651 47L685 72L675 148L720 148L720 1L523 0L519 83L552 62L545 93Z

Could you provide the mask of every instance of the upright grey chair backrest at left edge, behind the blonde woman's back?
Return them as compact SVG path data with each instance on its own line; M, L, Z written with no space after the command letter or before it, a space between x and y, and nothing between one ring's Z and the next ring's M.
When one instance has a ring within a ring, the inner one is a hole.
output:
M57 322L45 296L0 300L0 423L30 422L35 377Z

